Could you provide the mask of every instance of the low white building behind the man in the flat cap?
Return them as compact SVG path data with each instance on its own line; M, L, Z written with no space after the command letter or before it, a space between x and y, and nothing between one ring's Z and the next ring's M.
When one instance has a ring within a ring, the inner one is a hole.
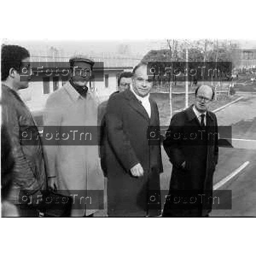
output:
M47 67L55 67L56 63L61 63L69 67L69 54L60 54L56 52L40 53L31 55L31 63L36 63L37 67L43 67L47 63ZM108 99L111 93L117 90L117 79L120 73L123 71L132 71L133 67L140 62L140 58L136 57L124 57L124 56L95 56L88 55L88 58L92 59L95 63L99 62L102 65L103 70L100 71L101 78L92 80L90 82L91 90L96 90L96 95L99 97L99 101ZM97 66L97 65L95 65ZM29 84L29 88L20 90L21 98L26 102L28 107L32 111L41 111L44 108L48 96L55 90L58 90L65 83L68 82L64 76L48 75L47 67L44 67L44 74L41 74L40 81L32 81ZM34 70L35 71L35 70ZM55 71L55 70L54 70ZM61 70L58 70L60 73ZM57 73L57 71L56 71ZM35 72L34 72L35 75Z

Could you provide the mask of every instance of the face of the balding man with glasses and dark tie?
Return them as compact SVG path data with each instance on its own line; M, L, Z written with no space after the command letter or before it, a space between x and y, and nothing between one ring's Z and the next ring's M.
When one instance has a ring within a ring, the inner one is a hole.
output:
M199 112L207 111L209 104L212 100L212 88L207 85L202 85L198 89L197 96L195 97L195 107Z

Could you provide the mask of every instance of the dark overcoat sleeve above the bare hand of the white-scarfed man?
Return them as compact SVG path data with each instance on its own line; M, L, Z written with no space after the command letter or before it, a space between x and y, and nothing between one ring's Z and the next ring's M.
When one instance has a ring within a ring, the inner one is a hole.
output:
M140 162L137 160L127 134L123 131L122 102L119 102L116 97L112 97L108 101L106 131L108 141L116 158L122 163L125 170L129 172L133 166Z

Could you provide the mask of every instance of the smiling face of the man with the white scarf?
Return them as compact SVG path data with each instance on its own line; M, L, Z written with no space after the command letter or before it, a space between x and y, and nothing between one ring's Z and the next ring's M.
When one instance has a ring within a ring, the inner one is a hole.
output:
M146 65L140 66L135 71L135 75L132 81L134 92L137 95L141 97L145 97L148 95L152 88L153 81L151 79L148 79Z

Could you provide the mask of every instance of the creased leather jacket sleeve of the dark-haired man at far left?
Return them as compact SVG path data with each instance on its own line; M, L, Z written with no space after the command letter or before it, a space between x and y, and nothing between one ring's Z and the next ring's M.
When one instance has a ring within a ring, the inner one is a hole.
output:
M20 145L20 125L15 106L11 100L2 105L2 119L8 128L11 138L12 156L15 162L13 169L13 183L21 189L29 190L31 194L41 189L41 183L35 178L33 172L34 164L23 153L22 145Z

